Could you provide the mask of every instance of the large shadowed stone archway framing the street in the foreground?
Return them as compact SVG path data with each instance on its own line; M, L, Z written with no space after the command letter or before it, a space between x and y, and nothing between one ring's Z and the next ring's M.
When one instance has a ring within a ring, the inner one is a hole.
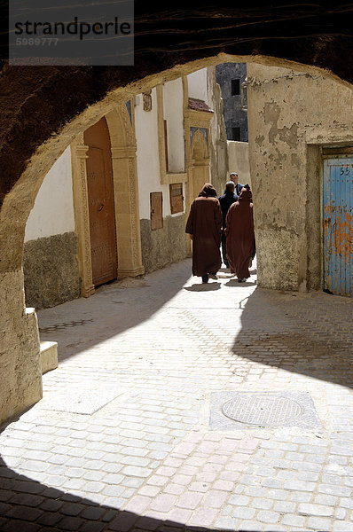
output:
M4 94L0 422L25 410L42 394L38 330L34 311L25 309L21 263L27 216L52 163L82 130L114 106L203 66L248 60L346 80L348 85L352 75L345 58L351 56L352 44L343 8L343 4L330 8L308 4L303 11L302 3L290 2L278 12L271 6L249 4L239 14L228 4L217 4L200 5L201 12L193 5L169 14L148 4L139 6L136 13L134 68L4 66L0 78ZM308 24L303 24L303 16ZM170 20L177 32L169 31Z

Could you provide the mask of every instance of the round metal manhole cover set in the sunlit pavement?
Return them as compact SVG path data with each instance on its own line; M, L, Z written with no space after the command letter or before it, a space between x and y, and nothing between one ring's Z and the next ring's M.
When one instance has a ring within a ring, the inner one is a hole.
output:
M278 395L237 395L222 406L227 418L257 426L278 426L301 416L302 406Z

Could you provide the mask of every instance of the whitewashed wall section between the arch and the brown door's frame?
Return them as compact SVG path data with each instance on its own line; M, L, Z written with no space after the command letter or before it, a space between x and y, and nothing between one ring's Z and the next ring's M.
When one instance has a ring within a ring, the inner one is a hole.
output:
M70 231L75 231L75 215L68 147L44 177L27 220L25 242Z

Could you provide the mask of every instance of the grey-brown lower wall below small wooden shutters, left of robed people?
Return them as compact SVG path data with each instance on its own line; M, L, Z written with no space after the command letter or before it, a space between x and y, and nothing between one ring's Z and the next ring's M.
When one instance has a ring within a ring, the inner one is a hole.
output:
M186 257L185 215L167 216L162 229L151 231L151 221L141 220L142 261L145 272L164 268Z

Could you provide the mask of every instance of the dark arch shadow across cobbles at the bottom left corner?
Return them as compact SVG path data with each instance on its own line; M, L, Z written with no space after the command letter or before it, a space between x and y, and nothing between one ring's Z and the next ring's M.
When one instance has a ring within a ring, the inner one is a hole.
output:
M3 426L4 429L4 426ZM1 432L1 428L0 428ZM1 532L212 532L215 528L186 526L172 520L144 517L98 505L51 488L16 473L0 458L0 530ZM217 528L221 530L221 528ZM241 532L241 528L222 528L223 532ZM247 529L247 532L250 532ZM252 532L259 532L254 530ZM269 530L269 532L271 532Z

